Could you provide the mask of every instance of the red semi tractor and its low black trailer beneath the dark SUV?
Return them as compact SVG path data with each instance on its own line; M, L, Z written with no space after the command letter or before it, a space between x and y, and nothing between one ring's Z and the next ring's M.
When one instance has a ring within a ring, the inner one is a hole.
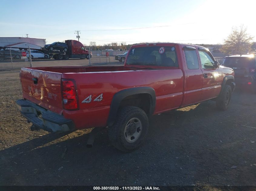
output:
M65 51L54 51L48 49L42 49L43 53L49 55L49 58L54 59L69 59L69 58L80 58L80 59L89 59L89 56L92 56L88 50L85 49L85 46L77 40L65 40L65 43L68 45L68 50Z

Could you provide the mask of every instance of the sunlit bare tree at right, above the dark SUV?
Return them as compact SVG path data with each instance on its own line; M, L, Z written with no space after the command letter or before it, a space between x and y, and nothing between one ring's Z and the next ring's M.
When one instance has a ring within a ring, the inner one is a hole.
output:
M232 54L243 54L251 49L253 37L247 33L247 27L233 27L231 34L224 40L222 51Z

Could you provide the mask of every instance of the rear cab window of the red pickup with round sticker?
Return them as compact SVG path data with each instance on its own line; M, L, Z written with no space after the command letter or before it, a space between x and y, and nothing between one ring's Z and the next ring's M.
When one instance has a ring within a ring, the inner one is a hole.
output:
M146 46L132 48L126 65L178 67L178 60L174 46Z

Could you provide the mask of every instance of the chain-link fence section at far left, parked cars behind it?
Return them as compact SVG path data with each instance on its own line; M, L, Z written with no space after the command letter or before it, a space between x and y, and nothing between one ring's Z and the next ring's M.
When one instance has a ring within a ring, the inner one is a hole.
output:
M23 53L23 55L22 55ZM0 50L0 70L30 67L31 60L25 56L26 51L2 49Z

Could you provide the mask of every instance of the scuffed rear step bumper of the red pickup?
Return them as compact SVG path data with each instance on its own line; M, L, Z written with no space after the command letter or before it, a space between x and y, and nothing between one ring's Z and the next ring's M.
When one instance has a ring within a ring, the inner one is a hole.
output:
M28 100L20 99L16 101L16 104L22 116L40 129L48 132L66 132L75 129L71 119L65 119L64 116L46 110Z

